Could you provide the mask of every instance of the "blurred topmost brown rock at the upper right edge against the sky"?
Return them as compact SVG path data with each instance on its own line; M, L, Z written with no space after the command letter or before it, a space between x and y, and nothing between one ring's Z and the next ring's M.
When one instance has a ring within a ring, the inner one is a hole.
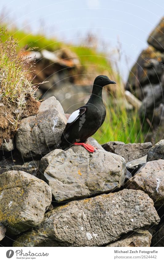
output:
M164 52L164 17L149 35L147 42L157 50Z

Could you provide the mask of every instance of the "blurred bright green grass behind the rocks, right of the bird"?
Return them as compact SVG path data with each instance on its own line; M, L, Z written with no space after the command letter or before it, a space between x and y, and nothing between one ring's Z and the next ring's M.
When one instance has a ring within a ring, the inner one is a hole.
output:
M127 110L124 105L114 104L111 96L106 108L106 119L94 134L98 143L122 141L124 143L143 143L144 133L137 110Z

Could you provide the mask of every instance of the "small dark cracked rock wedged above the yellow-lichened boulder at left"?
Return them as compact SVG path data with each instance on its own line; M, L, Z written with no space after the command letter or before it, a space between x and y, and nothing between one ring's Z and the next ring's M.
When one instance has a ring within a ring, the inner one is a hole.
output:
M17 171L24 171L36 177L39 173L39 162L39 160L32 160L30 162L26 162L23 165L14 165L11 167L11 169Z

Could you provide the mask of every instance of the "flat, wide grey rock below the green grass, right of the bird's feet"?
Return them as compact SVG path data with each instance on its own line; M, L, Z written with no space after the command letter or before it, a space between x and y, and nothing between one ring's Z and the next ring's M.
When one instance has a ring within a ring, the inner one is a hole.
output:
M129 162L134 159L145 156L149 148L152 147L152 143L147 142L125 144L120 141L110 141L106 144L103 144L102 147L108 152L112 152L114 154L124 157L126 162Z

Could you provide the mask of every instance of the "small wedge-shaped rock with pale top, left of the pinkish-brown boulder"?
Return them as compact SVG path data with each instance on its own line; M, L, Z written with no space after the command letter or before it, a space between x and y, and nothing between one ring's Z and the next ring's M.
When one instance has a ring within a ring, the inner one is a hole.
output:
M146 164L146 158L147 155L126 163L127 170L129 170L132 174L135 174L144 164Z

